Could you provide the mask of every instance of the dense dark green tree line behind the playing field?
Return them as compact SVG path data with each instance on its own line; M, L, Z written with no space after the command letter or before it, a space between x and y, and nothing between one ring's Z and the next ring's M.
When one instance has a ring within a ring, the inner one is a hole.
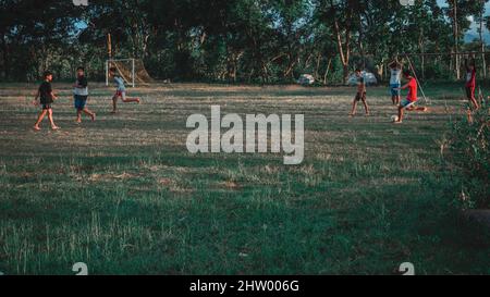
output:
M36 81L47 69L68 78L79 65L102 78L108 34L113 58L142 59L151 76L173 81L267 84L308 73L334 84L354 67L384 78L387 63L403 52L486 50L482 34L473 44L464 36L471 24L487 27L488 0L438 2L1 0L0 79ZM415 62L428 78L460 78L460 59Z

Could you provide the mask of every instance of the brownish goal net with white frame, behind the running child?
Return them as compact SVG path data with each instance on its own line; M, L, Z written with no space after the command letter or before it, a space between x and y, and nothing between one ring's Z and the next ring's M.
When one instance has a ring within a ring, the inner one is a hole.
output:
M115 67L119 75L132 87L147 85L154 79L140 59L119 59L106 61L106 86L109 86L109 70Z

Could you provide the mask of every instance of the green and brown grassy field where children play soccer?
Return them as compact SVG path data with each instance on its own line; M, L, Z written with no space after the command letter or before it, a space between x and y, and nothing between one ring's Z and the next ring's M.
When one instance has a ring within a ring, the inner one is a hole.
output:
M54 84L61 131L34 132L34 85L0 85L0 271L5 274L490 274L488 230L451 207L440 140L463 90L428 89L431 111L402 125L385 88L348 117L352 88L159 85L111 115L75 123ZM191 154L188 115L305 114L305 161Z

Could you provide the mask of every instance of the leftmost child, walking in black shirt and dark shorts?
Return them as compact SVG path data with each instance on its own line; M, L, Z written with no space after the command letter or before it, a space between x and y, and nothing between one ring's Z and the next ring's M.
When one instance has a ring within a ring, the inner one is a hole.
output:
M37 90L36 98L34 99L35 106L42 107L42 111L39 113L39 116L37 117L36 124L34 124L35 131L40 131L39 124L42 122L42 119L45 119L46 114L48 114L49 122L51 123L52 129L59 129L54 124L54 121L52 119L52 108L51 104L54 102L54 100L58 99L58 97L53 94L51 88L51 82L52 82L52 73L47 71L42 75L42 78L45 79L42 84L39 86L39 89ZM39 102L38 102L39 99Z

